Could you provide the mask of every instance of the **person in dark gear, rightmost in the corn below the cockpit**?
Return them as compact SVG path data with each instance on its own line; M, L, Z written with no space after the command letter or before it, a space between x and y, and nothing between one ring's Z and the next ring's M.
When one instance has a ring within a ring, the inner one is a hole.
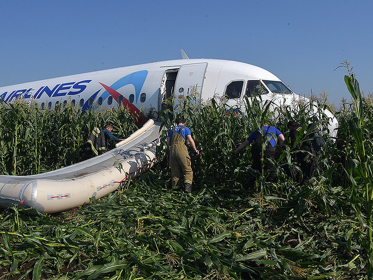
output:
M289 129L289 139L291 146L294 147L297 136L303 126L295 121L288 121L287 127ZM301 185L306 185L308 184L308 181L315 175L317 156L314 152L311 140L304 139L304 137L301 137L301 139L299 139L299 143L294 148L296 151L295 158L297 164L299 165L300 171L297 167L292 165L290 175ZM289 169L285 169L285 171L289 173ZM316 182L312 182L312 184L314 183Z

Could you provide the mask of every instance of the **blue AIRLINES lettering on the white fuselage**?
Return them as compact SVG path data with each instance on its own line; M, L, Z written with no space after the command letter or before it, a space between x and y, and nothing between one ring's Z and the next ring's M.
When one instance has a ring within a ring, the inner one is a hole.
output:
M82 93L86 88L87 84L92 80L83 80L79 82L70 82L63 84L56 84L54 87L48 87L48 85L43 85L40 87L36 93L33 93L34 88L26 88L22 90L12 91L8 95L8 91L0 95L0 102L11 102L13 99L23 95L24 99L28 99L33 96L35 99L39 99L41 96L47 95L48 97L62 97L67 95L76 95Z

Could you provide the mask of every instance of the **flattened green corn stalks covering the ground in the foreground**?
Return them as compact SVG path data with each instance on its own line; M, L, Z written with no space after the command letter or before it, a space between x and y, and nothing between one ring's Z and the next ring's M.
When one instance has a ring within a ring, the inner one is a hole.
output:
M336 228L337 217L320 223L325 216L312 215L305 226L291 197L222 188L186 195L163 177L157 168L60 214L4 210L0 255L8 276L32 268L41 279L305 279L339 275L345 266L338 257L347 219ZM19 229L11 230L15 220Z

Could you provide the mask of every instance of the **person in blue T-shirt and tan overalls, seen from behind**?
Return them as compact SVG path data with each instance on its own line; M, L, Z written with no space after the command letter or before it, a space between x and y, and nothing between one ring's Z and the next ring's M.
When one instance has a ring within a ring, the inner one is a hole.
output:
M171 168L172 188L178 189L184 177L184 192L192 191L193 171L185 140L188 139L197 155L200 153L195 147L189 128L185 126L185 120L178 118L177 126L167 135L167 147L169 148L169 165Z

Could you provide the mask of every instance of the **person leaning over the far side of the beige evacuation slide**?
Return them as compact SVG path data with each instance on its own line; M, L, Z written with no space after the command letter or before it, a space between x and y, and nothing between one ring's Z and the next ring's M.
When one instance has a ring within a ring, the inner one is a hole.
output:
M106 125L102 130L101 128L93 128L90 136L87 140L87 153L86 158L92 158L94 156L101 155L108 151L109 140L122 141L124 139L114 136L111 132L113 126L111 124Z

